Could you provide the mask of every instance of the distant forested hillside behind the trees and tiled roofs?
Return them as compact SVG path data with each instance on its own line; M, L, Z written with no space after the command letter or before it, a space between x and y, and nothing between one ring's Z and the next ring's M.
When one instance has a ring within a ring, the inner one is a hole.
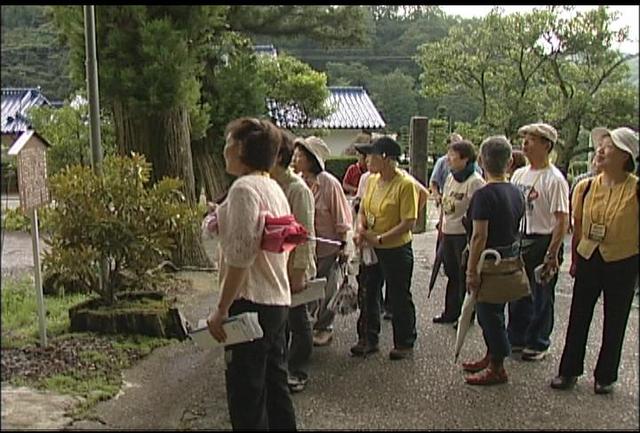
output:
M53 100L74 90L69 52L60 42L47 6L2 6L2 86L41 87ZM273 44L328 75L329 85L364 86L392 132L407 132L414 115L473 123L478 101L462 88L438 96L423 94L424 68L417 47L445 39L450 30L478 20L445 14L438 6L362 6L367 40L360 46L327 48L313 37L252 34L257 44ZM269 33L266 31L265 33ZM455 64L455 59L451 59ZM638 56L629 59L629 81L638 85ZM462 67L462 65L461 65ZM406 134L405 134L406 135Z

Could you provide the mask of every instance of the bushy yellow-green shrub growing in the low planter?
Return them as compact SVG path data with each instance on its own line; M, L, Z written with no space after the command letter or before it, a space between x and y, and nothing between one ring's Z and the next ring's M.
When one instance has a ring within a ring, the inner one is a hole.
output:
M94 291L109 304L117 291L157 287L163 275L155 270L175 248L174 234L200 216L186 204L182 181L164 178L149 187L150 173L151 164L133 155L107 157L102 178L80 165L51 177L56 204L43 260L49 284Z

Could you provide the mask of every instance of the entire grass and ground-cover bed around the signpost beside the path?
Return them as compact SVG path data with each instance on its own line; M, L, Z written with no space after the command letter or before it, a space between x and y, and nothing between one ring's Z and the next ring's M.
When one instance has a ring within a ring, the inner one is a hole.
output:
M3 380L8 379L16 386L81 397L82 403L72 414L76 419L85 417L97 402L108 400L119 392L123 369L131 367L155 348L176 341L144 335L71 333L69 308L92 295L68 294L45 297L48 349L51 350L42 350L38 347L33 278L28 275L3 278L1 295L3 372L5 362L12 362L13 368L18 369ZM21 354L18 356L17 352ZM64 360L63 367L51 368L54 364L51 357ZM38 374L30 374L37 366L43 368L38 370Z

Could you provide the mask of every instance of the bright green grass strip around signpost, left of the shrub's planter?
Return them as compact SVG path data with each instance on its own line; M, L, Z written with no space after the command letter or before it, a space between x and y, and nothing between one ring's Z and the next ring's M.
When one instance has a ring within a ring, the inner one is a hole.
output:
M2 279L2 348L36 344L40 339L36 289L33 277ZM91 295L45 296L47 337L69 331L69 308Z

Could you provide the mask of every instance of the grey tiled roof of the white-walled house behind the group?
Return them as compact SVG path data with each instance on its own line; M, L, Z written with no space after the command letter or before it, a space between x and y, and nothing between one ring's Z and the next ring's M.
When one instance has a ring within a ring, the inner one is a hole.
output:
M309 119L298 106L267 100L274 122L283 128L382 129L384 119L362 87L329 87L327 103L334 111L324 119Z

